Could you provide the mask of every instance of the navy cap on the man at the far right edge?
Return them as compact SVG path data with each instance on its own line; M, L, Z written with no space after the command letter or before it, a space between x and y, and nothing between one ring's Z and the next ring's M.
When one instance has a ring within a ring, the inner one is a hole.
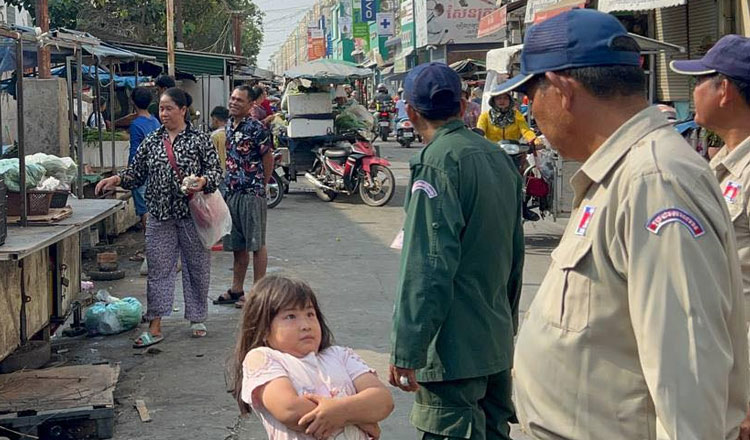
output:
M717 41L703 58L675 60L669 64L669 67L683 75L721 73L750 82L750 38L726 35Z

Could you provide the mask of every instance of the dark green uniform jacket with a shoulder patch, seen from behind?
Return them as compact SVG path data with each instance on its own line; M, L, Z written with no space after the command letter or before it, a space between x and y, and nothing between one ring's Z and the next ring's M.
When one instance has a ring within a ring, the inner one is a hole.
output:
M512 366L524 241L521 176L462 121L410 163L391 363L421 382Z

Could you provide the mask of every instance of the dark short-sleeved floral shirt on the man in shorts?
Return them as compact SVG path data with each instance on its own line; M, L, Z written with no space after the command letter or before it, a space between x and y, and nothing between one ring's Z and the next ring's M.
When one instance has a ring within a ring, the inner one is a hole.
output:
M230 192L265 197L263 155L273 147L271 132L252 116L243 118L234 128L230 117L227 130L227 173L224 180Z

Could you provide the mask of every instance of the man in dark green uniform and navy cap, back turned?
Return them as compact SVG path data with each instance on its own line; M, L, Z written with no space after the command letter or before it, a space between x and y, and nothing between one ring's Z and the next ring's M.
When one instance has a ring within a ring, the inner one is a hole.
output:
M508 439L523 269L521 178L461 119L461 80L441 63L406 78L427 142L411 161L390 382L416 391L423 439Z

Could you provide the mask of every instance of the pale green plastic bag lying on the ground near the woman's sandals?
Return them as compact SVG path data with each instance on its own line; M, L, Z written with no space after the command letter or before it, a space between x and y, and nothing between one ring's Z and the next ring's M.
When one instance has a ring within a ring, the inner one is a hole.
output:
M84 323L89 334L115 335L138 326L141 315L141 302L127 297L111 303L97 302L86 310Z

